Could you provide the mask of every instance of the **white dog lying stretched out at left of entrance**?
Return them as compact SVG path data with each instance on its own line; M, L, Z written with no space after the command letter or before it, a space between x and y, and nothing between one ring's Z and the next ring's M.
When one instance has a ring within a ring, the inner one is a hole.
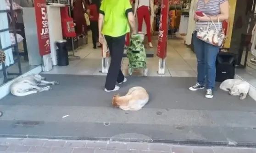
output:
M45 77L42 77L39 74L27 75L11 84L11 94L16 96L25 96L25 95L35 94L37 92L51 90L50 86L46 86L46 87L37 86L37 85L46 85L46 84L59 84L59 82L45 81Z

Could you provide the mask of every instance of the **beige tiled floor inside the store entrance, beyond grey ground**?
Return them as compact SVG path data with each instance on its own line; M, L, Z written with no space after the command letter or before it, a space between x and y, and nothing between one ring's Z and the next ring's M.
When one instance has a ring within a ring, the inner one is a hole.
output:
M68 66L55 66L46 74L106 75L100 73L101 50L92 48L90 34L88 42L88 45L80 47L75 52L81 59L71 58ZM152 43L153 49L156 51L157 36L154 36ZM165 74L157 74L159 58L155 56L154 58L147 58L148 76L195 77L196 57L189 48L184 46L184 41L168 40L167 45ZM123 58L121 69L125 75L128 75L128 58ZM135 69L133 75L142 76L143 71Z

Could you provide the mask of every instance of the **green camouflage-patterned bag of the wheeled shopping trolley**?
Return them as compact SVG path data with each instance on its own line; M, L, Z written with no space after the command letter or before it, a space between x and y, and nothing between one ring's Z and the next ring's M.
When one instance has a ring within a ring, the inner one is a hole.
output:
M130 45L127 48L127 57L129 60L129 68L146 69L146 52L141 37L132 35Z

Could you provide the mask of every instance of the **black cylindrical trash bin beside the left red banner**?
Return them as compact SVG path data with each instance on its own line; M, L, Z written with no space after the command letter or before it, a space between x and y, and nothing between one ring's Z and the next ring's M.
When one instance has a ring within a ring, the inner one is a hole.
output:
M67 51L67 40L61 39L56 41L57 49L57 62L59 66L67 66L68 62L68 51Z

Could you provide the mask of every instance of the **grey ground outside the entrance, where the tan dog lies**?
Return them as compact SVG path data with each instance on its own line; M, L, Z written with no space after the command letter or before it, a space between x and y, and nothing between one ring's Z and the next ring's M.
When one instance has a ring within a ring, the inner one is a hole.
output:
M143 86L150 101L140 111L122 111L111 106L114 92L103 90L105 76L45 77L60 84L52 85L51 91L25 97L8 95L0 101L4 112L0 135L256 144L256 102L249 96L242 101L230 96L219 84L214 98L206 99L205 90L188 90L195 78L128 77L116 93L124 95L131 87Z

